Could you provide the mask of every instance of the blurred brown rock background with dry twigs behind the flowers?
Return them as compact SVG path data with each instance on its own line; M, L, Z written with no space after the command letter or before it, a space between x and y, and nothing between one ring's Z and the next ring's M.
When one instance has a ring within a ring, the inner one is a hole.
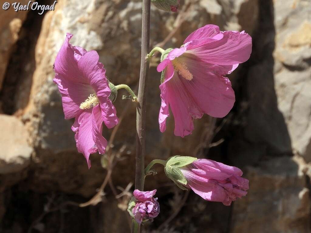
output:
M91 155L88 170L77 153L73 120L64 120L52 66L70 32L73 45L98 51L114 84L136 89L141 9L141 0L59 0L43 15L0 8L0 232L130 232L125 209L134 181L135 105L119 92L122 121L104 128L107 154ZM206 24L253 37L250 59L229 75L234 108L222 119L204 115L184 139L174 136L173 117L160 133L154 58L146 164L176 154L211 158L241 168L248 195L231 206L207 202L179 190L155 166L158 175L148 176L145 187L158 190L161 212L143 232L310 232L311 2L181 0L178 13L152 6L151 47L179 47Z

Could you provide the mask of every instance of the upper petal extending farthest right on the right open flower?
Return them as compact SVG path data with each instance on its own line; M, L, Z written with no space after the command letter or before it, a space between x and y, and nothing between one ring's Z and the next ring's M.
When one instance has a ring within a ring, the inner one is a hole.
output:
M224 32L223 39L187 51L202 61L218 65L246 62L252 52L252 38L246 33Z

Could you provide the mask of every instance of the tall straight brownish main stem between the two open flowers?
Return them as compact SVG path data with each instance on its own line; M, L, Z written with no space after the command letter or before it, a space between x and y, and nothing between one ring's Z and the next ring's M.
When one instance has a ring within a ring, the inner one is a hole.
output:
M150 41L150 5L151 0L142 1L142 59L140 66L138 105L136 117L136 164L135 164L135 189L144 190L145 181L145 141L146 141L146 83L149 62L146 59L149 53ZM140 232L133 224L132 232Z

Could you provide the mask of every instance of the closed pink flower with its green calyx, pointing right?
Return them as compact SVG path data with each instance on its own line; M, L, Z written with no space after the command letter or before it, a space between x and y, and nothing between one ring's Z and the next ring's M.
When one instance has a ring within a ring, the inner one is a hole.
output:
M165 165L166 175L179 187L191 188L207 201L230 205L247 194L248 180L243 172L210 159L174 156Z

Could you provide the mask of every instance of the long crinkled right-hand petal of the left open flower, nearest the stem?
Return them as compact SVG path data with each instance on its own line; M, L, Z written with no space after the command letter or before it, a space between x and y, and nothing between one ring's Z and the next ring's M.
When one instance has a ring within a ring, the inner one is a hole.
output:
M99 55L95 50L84 54L78 62L79 69L83 75L87 77L92 88L95 90L97 98L100 101L100 108L102 111L102 118L108 128L114 127L118 124L117 111L109 99L110 88L105 76L106 70L103 64L98 62Z

